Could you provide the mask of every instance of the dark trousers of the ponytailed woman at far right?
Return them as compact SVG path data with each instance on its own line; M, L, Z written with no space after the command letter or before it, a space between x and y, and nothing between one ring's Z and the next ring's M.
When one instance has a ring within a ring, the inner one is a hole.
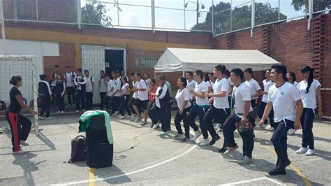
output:
M304 108L301 115L302 128L302 147L314 150L313 122L315 110L313 108Z

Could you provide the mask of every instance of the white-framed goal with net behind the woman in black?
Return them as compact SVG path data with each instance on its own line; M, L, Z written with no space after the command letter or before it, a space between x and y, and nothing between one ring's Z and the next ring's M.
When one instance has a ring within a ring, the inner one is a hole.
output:
M12 85L9 80L12 76L22 77L22 87L20 92L26 102L27 106L31 106L38 112L38 88L37 88L37 74L36 62L34 56L0 56L0 100L4 101L9 106L10 98L9 91ZM34 126L36 135L39 133L38 129L38 115L34 116Z

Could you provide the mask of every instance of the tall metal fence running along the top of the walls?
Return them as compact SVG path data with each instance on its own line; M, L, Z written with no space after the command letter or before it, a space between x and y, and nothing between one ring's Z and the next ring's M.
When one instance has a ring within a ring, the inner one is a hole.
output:
M214 36L329 13L330 0L2 0L3 17L99 27L207 31Z

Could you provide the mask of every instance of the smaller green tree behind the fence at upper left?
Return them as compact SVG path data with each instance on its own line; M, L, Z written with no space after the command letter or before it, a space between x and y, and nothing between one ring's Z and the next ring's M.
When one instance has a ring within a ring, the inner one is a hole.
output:
M97 24L103 27L111 27L112 19L107 15L107 8L96 1L87 2L81 8L83 24Z

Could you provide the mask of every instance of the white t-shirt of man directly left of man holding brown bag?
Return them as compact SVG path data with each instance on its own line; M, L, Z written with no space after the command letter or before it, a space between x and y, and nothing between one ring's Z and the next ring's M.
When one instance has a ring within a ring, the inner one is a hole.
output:
M230 83L226 78L222 78L221 80L216 80L214 83L214 94L219 94L220 92L226 92L226 96L223 97L214 97L213 106L215 108L230 108L228 101L228 90L230 90Z

